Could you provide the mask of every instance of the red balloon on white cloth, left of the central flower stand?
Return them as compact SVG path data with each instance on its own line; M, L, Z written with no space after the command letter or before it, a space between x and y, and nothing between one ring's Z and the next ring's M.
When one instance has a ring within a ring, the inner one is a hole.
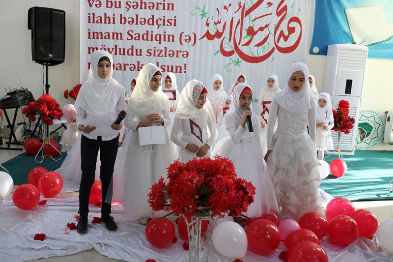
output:
M147 242L155 247L165 247L169 245L176 230L172 221L168 218L163 218L157 221L159 217L153 218L146 226L144 234Z

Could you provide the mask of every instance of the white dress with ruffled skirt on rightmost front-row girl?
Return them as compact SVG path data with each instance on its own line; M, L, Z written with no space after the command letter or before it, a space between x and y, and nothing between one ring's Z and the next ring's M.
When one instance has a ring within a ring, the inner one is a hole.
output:
M307 132L309 114L313 114L310 119L315 119L315 109L294 114L272 103L270 114L269 119L274 120L278 115L278 128L272 140L268 133L268 149L273 151L266 166L275 187L277 203L282 208L280 220L299 221L307 212L321 213L319 162L315 143Z

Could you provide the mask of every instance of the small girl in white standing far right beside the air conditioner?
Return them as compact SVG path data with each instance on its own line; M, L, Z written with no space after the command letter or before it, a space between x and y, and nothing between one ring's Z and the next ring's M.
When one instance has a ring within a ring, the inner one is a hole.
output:
M333 149L333 138L330 129L335 125L330 94L320 93L316 110L316 138L318 159L323 160L324 150Z

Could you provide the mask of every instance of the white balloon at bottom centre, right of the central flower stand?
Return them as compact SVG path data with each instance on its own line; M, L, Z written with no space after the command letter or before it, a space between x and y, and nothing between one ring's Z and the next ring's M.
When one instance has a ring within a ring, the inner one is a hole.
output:
M224 221L214 229L213 245L221 255L240 259L247 252L247 234L239 224Z

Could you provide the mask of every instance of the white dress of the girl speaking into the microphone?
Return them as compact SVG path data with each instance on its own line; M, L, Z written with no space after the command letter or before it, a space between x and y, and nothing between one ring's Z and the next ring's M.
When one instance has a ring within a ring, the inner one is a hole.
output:
M217 144L213 155L220 155L231 160L235 166L237 177L253 183L255 187L254 202L244 215L256 218L264 213L277 211L273 183L263 164L259 123L254 124L254 132L249 132L229 113L225 115L225 123L229 136Z

